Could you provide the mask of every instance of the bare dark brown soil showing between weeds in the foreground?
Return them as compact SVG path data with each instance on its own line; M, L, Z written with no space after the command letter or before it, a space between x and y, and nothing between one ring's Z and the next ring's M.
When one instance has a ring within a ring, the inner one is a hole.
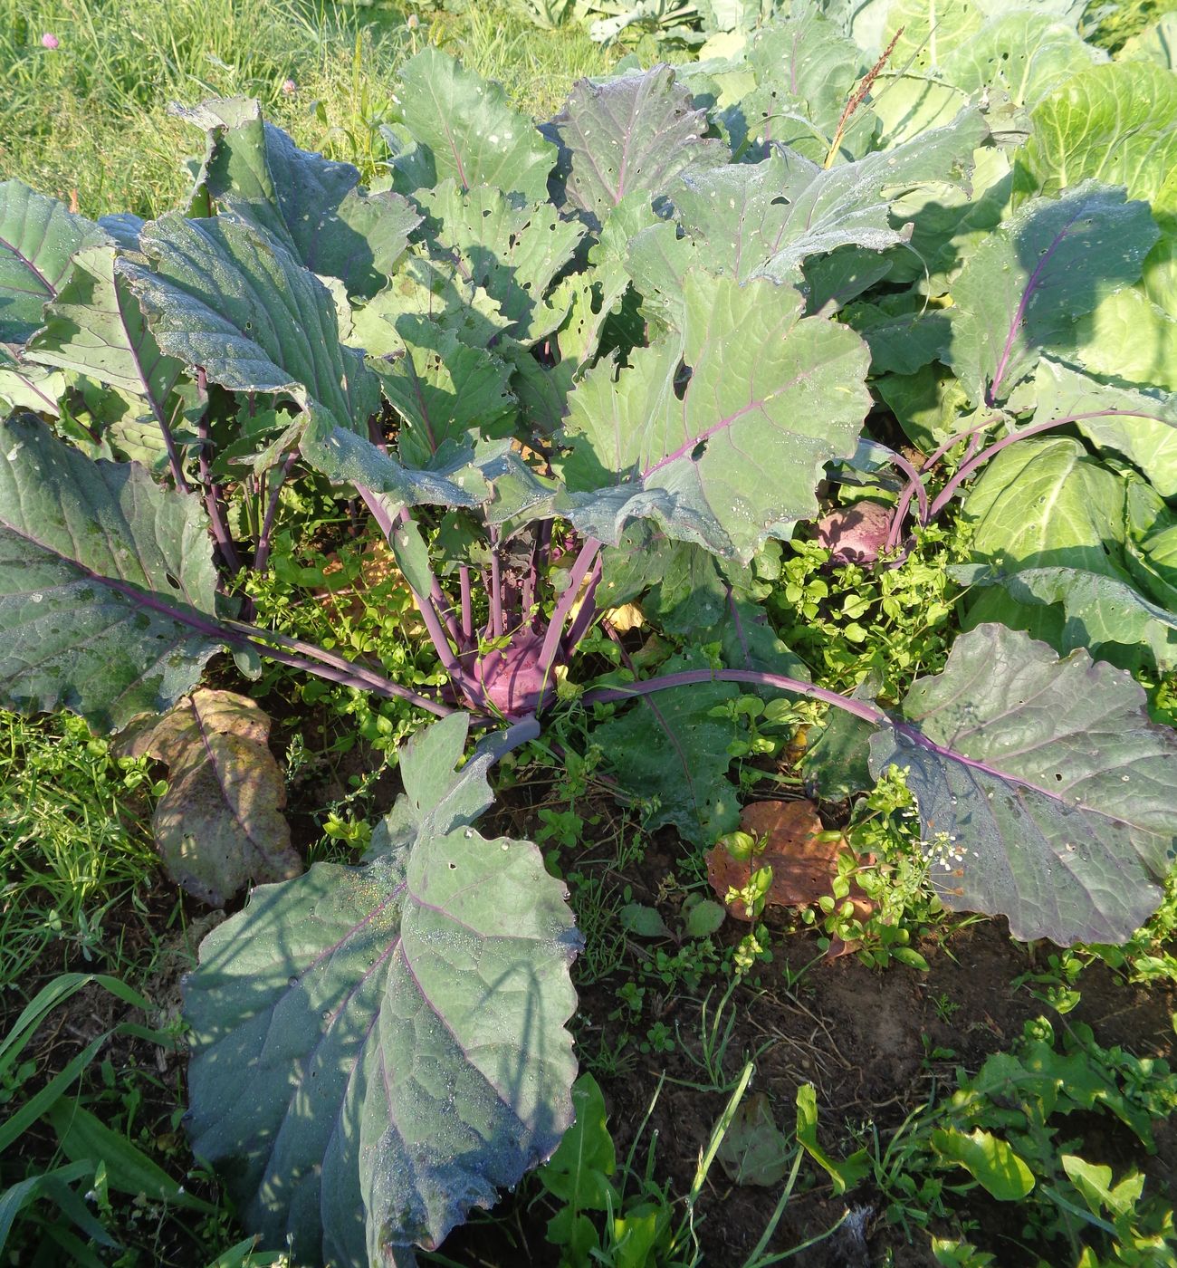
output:
M353 761L356 768L371 768L364 766L371 761L371 754L360 754ZM348 765L346 760L333 761L321 775L312 772L304 786L295 786L290 810L295 833L303 842L315 832L313 808L323 804L324 785L327 791L336 787L342 791ZM375 809L386 809L395 784L394 776L380 781ZM537 786L509 794L484 831L530 834L540 796L542 791L537 792ZM592 809L595 812L598 805ZM604 831L611 822L616 823L617 812L608 803L601 803L599 810L604 817L601 831ZM582 814L588 813L582 808ZM568 866L574 862L566 858ZM655 902L660 883L675 866L682 866L677 846L660 837L632 874L620 876L602 871L601 876L611 885L631 885L639 900ZM162 902L163 896L161 883L161 922L166 912L175 912L174 904ZM664 904L664 915L671 927L675 924L674 903L671 898ZM195 905L191 905L191 914L199 914ZM1081 979L1079 1007L1060 1018L1027 989L1014 988L1015 979L1041 965L1035 962L1033 950L1008 938L1000 922L972 923L958 928L941 945L921 946L931 965L925 974L903 966L877 973L854 956L815 961L818 950L812 936L788 932L788 919L786 914L770 913L774 960L751 974L734 997L735 1026L723 1073L732 1083L744 1060L754 1056L753 1088L768 1094L777 1122L786 1130L792 1126L798 1087L812 1083L817 1090L820 1139L835 1158L849 1154L863 1139L869 1139L872 1131L886 1146L907 1115L926 1104L934 1092L946 1096L953 1090L958 1068L974 1073L987 1056L1010 1047L1024 1023L1038 1016L1050 1017L1057 1031L1072 1021L1087 1022L1105 1046L1119 1044L1138 1056L1172 1061L1171 1014L1177 1011L1177 992L1171 987L1144 990L1095 966ZM728 946L735 945L746 928L728 921L718 938ZM150 992L162 1014L176 1007L176 983L189 962L189 952L180 945L179 936L174 941L176 954L169 961L170 967ZM637 948L649 951L649 947L650 943L635 942L625 969L604 980L587 984L582 979L576 1022L582 1051L598 1051L602 1042L608 1045L626 1025L625 1019L611 1018L618 1008L617 992L630 976L639 978ZM47 966L46 974L49 976L60 969L61 965ZM690 1188L701 1151L727 1102L727 1092L702 1092L684 1085L701 1078L692 1056L699 1056L702 997L712 984L713 1006L726 979L713 978L694 993L680 988L659 993L656 983L641 980L647 987L645 1012L640 1021L630 1021L628 1028L644 1032L660 1019L677 1031L675 1050L649 1055L631 1052L626 1074L602 1079L602 1087L618 1159L623 1159L636 1141L636 1168L641 1170L652 1149L655 1181L680 1198ZM86 990L61 1011L52 1032L38 1037L30 1055L48 1077L89 1037L123 1016L125 1009L104 993ZM158 1122L160 1131L166 1135L163 1123L176 1106L175 1088L181 1079L182 1058L161 1054L134 1040L115 1041L104 1055L117 1070L130 1061L141 1068L155 1065L158 1104L144 1104L142 1113ZM1177 1125L1172 1123L1158 1126L1158 1149L1153 1156L1145 1155L1126 1130L1110 1125L1106 1116L1073 1116L1067 1135L1081 1140L1079 1151L1091 1160L1116 1168L1138 1165L1148 1175L1149 1192L1172 1194L1177 1193L1174 1127ZM176 1136L170 1153L175 1160L172 1169L179 1172L186 1163L182 1161L182 1140L179 1134ZM52 1136L38 1130L27 1137L27 1144L34 1151L51 1151ZM726 1181L718 1165L712 1167L696 1208L704 1264L740 1268L760 1239L778 1197L779 1186L736 1187ZM848 1221L846 1227L791 1258L789 1263L798 1268L874 1268L883 1263L897 1268L932 1265L926 1234L915 1230L908 1240L901 1227L883 1219L883 1206L882 1194L869 1181L844 1197L835 1196L825 1173L806 1161L769 1253L783 1253L818 1236L851 1210L859 1235L848 1231ZM1025 1246L1024 1221L1016 1206L997 1203L974 1189L958 1201L955 1210L962 1219L976 1221L972 1239L991 1250L1003 1268L1031 1265L1038 1262L1036 1255L1054 1262L1050 1257L1057 1246ZM679 1211L677 1207L675 1217ZM457 1230L443 1246L446 1262L462 1268L555 1268L557 1257L544 1238L552 1213L554 1207L540 1187L525 1183L519 1193L508 1196L495 1212L478 1216ZM945 1226L934 1231L946 1234L950 1230ZM190 1244L185 1245L179 1227L157 1241L157 1252L160 1264L179 1268L193 1262Z

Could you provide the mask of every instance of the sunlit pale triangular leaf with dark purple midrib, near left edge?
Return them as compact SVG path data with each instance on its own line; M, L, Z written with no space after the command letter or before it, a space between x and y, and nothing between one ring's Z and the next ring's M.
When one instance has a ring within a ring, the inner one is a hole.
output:
M25 355L142 397L158 424L170 420L169 397L185 370L182 361L160 351L110 246L75 255L73 270Z

